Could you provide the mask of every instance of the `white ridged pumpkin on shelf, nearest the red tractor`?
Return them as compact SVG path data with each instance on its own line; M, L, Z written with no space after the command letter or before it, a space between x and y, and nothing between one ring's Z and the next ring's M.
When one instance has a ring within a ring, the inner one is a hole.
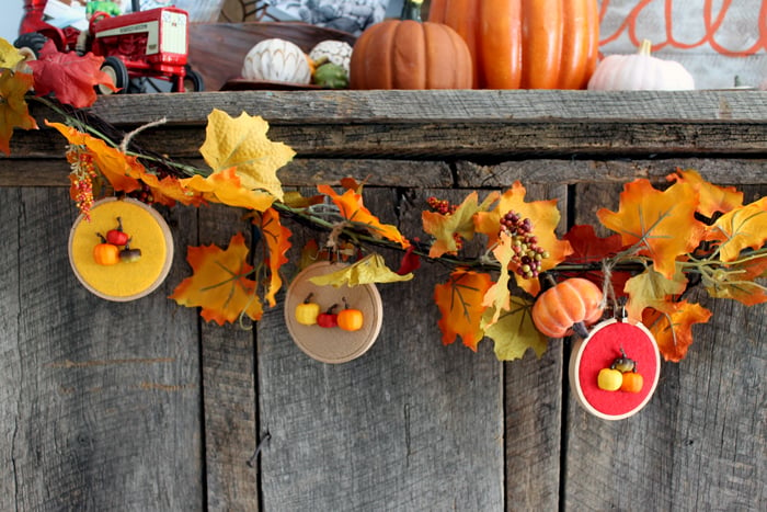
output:
M253 46L242 66L242 78L307 84L311 68L307 55L289 41L264 39Z

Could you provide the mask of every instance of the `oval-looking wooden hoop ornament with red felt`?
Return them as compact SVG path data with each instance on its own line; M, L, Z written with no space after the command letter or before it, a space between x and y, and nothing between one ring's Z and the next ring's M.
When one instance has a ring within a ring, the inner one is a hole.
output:
M642 376L641 389L632 392L600 388L599 372L615 369L615 363L626 360L636 366L630 372ZM585 340L574 344L570 357L570 386L575 398L584 409L604 420L622 420L639 412L655 392L660 375L657 343L640 322L605 320Z

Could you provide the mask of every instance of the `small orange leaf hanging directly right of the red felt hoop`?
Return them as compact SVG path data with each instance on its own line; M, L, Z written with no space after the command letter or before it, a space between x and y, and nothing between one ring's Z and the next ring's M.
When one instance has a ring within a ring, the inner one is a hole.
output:
M692 344L692 325L709 321L711 311L687 300L666 303L663 307L662 311L646 308L642 322L655 337L663 359L678 363Z

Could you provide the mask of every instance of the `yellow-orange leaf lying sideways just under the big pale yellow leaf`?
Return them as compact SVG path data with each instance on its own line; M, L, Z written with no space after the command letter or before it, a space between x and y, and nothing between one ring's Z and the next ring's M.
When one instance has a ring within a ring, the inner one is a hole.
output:
M274 195L260 190L242 186L240 174L234 168L215 171L203 178L197 174L181 180L183 186L202 193L211 203L222 203L238 208L264 212L274 203Z

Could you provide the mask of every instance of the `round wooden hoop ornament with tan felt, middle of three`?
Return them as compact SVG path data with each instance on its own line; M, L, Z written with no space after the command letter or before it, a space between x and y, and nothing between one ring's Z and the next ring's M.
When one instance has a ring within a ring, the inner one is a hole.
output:
M373 346L384 322L384 306L378 288L374 284L357 286L320 286L311 277L339 271L344 263L319 262L301 271L290 283L285 297L285 323L298 348L310 357L322 363L345 363L359 357ZM363 314L363 326L357 331L345 331L340 327L304 325L296 319L296 307L311 294L311 301L322 311L336 305L335 311L344 308L344 299L351 308Z

